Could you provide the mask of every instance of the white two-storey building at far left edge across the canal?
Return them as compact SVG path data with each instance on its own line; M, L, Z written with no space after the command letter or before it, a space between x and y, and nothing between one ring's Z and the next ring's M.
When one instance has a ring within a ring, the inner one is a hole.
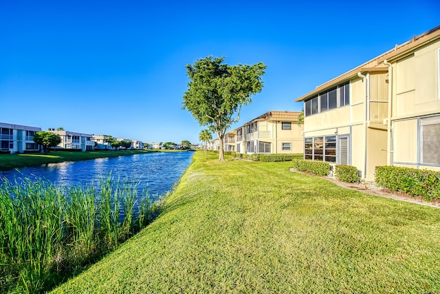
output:
M40 131L41 127L0 123L0 151L8 153L40 151L40 145L34 142L34 134Z

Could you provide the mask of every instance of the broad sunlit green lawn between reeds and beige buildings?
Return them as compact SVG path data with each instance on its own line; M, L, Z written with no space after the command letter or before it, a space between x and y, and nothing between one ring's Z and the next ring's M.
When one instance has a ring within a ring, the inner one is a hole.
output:
M440 292L439 209L216 158L197 152L155 222L55 292Z

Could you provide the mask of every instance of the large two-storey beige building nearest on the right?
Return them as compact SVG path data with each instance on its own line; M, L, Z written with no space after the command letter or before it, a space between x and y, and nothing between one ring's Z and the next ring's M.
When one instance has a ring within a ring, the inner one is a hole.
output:
M305 159L440 169L440 26L301 96Z

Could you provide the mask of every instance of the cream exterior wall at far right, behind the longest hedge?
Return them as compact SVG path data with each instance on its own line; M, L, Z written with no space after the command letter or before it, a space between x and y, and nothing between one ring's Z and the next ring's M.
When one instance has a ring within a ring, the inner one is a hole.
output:
M392 64L391 164L416 169L440 170L439 158L423 160L423 121L437 120L438 134L430 134L434 149L440 143L440 40L408 52ZM434 151L435 153L435 151ZM437 152L438 153L438 152Z

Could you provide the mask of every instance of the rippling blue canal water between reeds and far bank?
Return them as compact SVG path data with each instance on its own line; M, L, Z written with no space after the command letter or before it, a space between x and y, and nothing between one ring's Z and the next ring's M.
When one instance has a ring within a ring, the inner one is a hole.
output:
M75 162L50 163L41 167L23 167L19 171L0 171L0 178L43 178L56 185L98 183L109 174L116 180L138 183L139 192L147 189L152 200L170 191L190 165L193 152L153 152L98 158Z

